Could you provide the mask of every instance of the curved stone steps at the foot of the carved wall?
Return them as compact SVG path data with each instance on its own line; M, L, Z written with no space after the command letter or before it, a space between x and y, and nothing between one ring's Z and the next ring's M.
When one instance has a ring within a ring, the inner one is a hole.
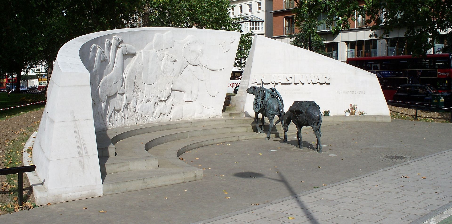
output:
M183 153L203 146L262 138L253 118L224 108L223 118L118 127L96 133L104 195L202 179L202 169L181 161ZM268 120L264 125L268 130ZM289 133L295 133L295 126ZM272 137L283 136L281 125Z

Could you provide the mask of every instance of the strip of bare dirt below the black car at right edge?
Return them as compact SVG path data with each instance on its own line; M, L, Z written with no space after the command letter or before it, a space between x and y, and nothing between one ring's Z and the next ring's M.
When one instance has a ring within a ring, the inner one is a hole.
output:
M416 110L388 105L391 118L414 120ZM435 112L418 110L418 120L429 122L451 123L451 112Z

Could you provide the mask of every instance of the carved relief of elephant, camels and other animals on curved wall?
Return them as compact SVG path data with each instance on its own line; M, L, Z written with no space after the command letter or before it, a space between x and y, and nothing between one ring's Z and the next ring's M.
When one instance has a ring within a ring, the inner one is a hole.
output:
M225 53L234 41L216 46ZM215 110L208 102L198 100L198 94L200 88L205 88L203 92L212 99L218 95L211 78L224 66L217 65L221 62L209 62L208 57L212 56L204 53L197 37L174 39L171 31L157 33L152 42L138 51L123 42L122 36L113 36L105 40L104 49L96 44L90 48L87 69L96 130L221 117L221 109Z

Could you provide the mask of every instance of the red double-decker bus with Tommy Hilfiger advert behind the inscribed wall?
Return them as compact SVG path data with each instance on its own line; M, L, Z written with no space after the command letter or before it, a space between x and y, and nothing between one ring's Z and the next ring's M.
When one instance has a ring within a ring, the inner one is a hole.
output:
M397 87L403 84L424 84L440 92L452 91L452 54L353 57L347 63L377 75L386 100L392 100Z

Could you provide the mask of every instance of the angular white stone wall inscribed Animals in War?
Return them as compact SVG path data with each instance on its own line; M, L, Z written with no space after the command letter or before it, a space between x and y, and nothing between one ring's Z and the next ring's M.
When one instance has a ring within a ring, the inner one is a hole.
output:
M320 110L344 115L350 104L368 115L389 115L377 76L303 48L259 35L254 36L250 55L235 97L237 110L254 116L250 86L276 89L284 100L284 111L294 101L315 100Z

